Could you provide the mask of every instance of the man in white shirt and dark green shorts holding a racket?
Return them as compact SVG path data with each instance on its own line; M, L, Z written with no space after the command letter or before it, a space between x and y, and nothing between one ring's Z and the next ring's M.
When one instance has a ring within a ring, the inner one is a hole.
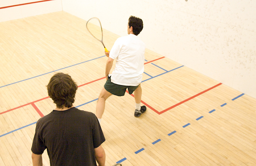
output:
M128 36L118 38L111 51L105 52L108 60L106 62L106 83L99 94L96 106L96 116L100 121L105 109L106 99L114 94L123 96L128 89L129 94L134 92L135 112L139 117L146 111L146 106L140 106L142 73L144 72L144 53L146 45L137 36L143 29L140 18L130 16L127 25ZM115 69L109 76L113 61L116 59Z

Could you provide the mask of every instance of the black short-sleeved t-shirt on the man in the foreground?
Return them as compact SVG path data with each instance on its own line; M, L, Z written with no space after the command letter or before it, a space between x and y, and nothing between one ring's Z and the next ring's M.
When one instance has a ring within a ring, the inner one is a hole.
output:
M32 152L47 148L51 166L96 166L94 148L105 141L95 114L75 107L37 121Z

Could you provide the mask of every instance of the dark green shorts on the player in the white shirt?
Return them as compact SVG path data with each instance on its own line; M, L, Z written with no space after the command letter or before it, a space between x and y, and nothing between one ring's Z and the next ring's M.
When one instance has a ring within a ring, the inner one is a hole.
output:
M126 88L128 88L129 94L132 94L135 91L135 89L138 88L138 86L117 85L111 82L111 78L109 78L106 81L104 88L106 89L106 91L110 92L111 94L114 94L117 96L123 96L125 94Z

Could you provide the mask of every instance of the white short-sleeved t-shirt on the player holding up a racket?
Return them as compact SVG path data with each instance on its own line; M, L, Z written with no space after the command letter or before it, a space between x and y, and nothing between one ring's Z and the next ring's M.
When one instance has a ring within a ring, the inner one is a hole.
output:
M146 45L134 34L118 38L109 57L116 59L111 82L124 86L138 86L144 72L144 53Z

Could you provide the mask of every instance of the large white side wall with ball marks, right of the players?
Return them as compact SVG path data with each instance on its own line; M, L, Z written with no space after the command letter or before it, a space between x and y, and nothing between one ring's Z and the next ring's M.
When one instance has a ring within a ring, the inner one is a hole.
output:
M129 16L138 16L148 49L256 98L255 0L62 0L62 5L85 20L98 17L103 28L121 36Z

